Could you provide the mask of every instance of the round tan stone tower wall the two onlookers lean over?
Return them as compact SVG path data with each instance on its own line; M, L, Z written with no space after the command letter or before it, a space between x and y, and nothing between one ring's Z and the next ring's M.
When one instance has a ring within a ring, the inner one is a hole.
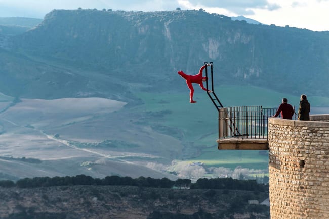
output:
M329 218L329 115L310 119L269 119L272 219Z

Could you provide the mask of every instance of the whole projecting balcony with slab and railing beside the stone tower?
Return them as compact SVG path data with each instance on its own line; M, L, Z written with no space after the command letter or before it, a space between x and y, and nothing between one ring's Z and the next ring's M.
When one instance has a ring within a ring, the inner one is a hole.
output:
M219 150L268 150L268 118L276 108L235 106L219 108ZM280 117L280 116L278 116ZM297 119L294 115L293 119Z

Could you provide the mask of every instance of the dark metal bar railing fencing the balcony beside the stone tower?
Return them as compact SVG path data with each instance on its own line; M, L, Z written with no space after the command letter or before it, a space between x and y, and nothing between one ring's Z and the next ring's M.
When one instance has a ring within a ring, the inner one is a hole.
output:
M267 138L268 118L275 115L276 111L276 108L262 106L220 108L218 136L219 138ZM296 115L293 119L296 119Z

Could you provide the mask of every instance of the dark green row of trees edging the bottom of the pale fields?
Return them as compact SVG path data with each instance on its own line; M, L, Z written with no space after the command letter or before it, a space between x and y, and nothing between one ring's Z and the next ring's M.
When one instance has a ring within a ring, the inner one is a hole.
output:
M190 179L177 179L176 181L168 178L154 179L151 177L119 177L107 176L104 179L93 178L84 174L65 177L34 177L24 178L16 182L11 180L0 181L0 186L18 187L18 188L35 188L50 186L75 186L75 185L118 185L118 186L140 186L155 188L189 188L189 189L232 189L232 190L248 190L248 191L268 191L268 185L258 184L256 180L237 180L232 178L200 178L195 183L191 183Z

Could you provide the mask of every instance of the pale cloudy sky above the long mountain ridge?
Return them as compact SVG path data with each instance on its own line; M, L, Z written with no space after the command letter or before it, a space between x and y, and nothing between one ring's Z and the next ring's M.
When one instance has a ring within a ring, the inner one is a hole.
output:
M329 31L329 0L0 0L0 17L44 18L53 9L199 10L263 24Z

